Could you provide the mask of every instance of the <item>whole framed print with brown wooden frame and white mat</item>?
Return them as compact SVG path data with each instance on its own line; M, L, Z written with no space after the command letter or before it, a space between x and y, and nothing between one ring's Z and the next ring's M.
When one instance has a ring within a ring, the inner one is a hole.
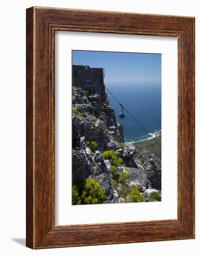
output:
M194 238L194 17L26 10L26 245Z

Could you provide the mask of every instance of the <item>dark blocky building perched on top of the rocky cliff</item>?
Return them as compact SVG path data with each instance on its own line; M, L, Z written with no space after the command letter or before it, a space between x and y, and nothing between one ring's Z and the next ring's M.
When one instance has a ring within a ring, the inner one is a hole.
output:
M104 68L72 65L72 85L80 86L89 94L100 94L106 96L104 79Z

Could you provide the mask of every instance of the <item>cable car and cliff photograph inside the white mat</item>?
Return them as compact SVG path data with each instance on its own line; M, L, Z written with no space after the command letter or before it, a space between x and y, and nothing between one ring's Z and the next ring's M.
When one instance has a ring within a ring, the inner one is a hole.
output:
M71 69L72 205L161 201L161 54L72 50Z

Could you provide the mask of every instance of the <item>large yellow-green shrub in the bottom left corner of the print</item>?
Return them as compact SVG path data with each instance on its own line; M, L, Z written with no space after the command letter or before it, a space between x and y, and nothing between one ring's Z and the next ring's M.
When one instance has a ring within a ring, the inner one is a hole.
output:
M72 186L72 204L103 203L106 195L93 179L80 180Z

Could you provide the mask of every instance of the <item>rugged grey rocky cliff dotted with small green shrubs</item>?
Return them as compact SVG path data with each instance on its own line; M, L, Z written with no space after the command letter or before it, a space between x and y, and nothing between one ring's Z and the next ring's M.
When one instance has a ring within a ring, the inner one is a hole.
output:
M93 179L104 203L160 200L161 160L136 153L134 145L124 143L109 101L72 87L72 183Z

